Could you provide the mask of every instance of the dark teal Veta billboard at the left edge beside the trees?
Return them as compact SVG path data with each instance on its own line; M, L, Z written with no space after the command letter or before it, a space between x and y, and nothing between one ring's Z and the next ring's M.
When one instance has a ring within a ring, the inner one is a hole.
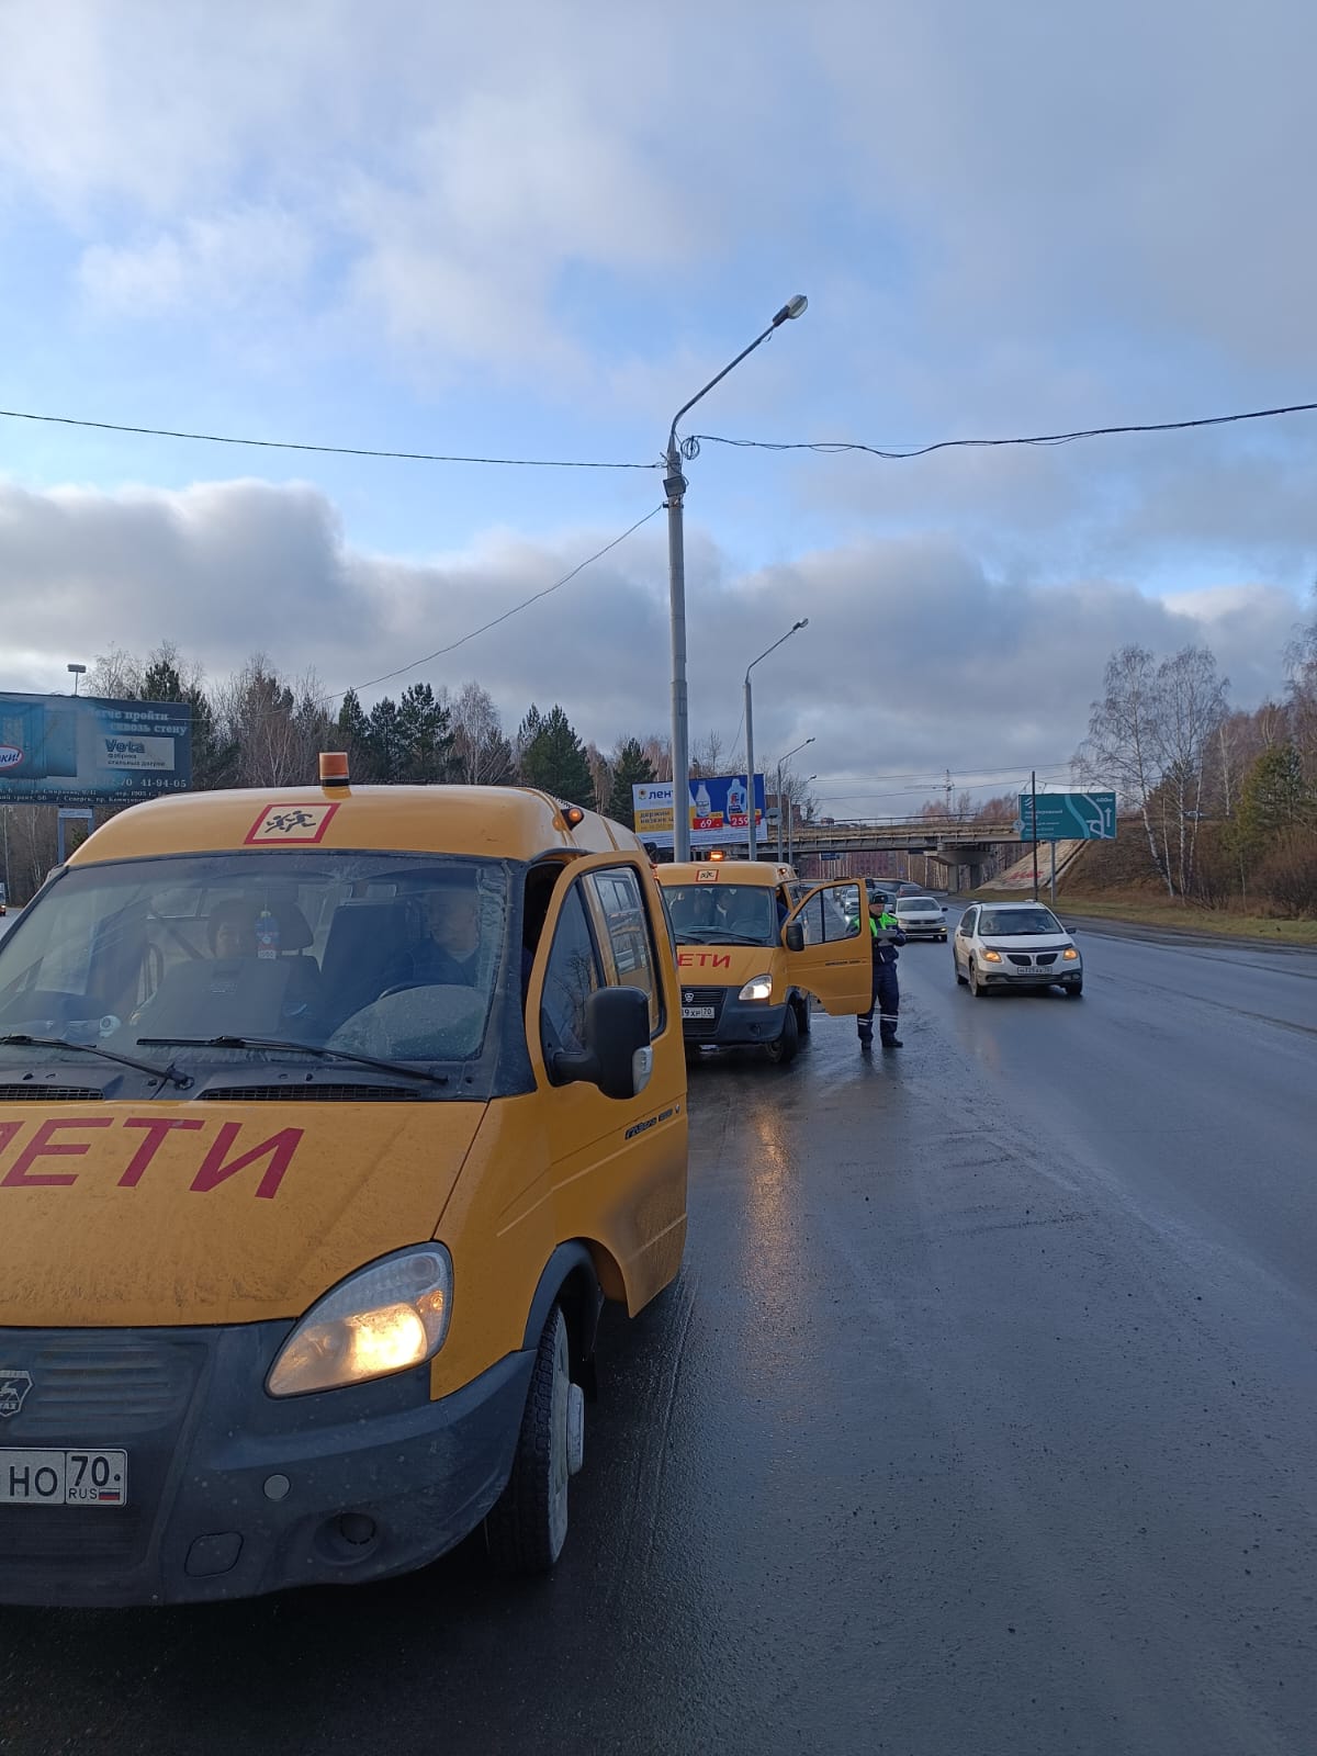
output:
M191 787L191 708L0 695L0 804L132 804Z

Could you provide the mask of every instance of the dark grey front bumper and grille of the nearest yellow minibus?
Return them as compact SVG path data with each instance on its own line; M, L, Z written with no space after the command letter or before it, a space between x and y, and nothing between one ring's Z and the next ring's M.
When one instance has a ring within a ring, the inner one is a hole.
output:
M288 1329L0 1329L0 1364L23 1391L0 1426L0 1603L351 1584L467 1536L511 1473L534 1354L439 1401L428 1364L270 1398ZM104 1475L125 1459L123 1505L63 1503L61 1466L72 1484L88 1465L67 1459L86 1457L114 1459Z

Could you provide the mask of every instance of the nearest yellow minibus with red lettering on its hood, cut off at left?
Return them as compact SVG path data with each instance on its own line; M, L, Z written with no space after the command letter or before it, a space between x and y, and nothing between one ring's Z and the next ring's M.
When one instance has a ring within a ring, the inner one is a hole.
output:
M0 939L0 1601L544 1570L687 1229L637 838L539 792L123 811Z

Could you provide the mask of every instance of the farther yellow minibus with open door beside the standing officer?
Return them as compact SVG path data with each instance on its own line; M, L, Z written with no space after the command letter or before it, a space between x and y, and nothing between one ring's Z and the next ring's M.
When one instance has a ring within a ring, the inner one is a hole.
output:
M658 866L676 939L681 1029L694 1048L764 1048L788 1062L811 997L855 1015L873 994L864 885L811 885L771 860Z

